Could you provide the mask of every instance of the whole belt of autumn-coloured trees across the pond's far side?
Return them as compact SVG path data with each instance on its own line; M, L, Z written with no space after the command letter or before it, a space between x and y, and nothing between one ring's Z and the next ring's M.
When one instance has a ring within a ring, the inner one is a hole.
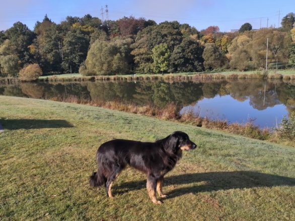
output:
M46 15L34 30L16 22L0 32L0 75L260 69L266 65L266 37L269 61L293 68L294 22L289 13L280 28L252 30L245 23L239 32L224 33L217 26L198 31L177 21L157 24L132 16L104 22L91 15L68 16L56 24Z

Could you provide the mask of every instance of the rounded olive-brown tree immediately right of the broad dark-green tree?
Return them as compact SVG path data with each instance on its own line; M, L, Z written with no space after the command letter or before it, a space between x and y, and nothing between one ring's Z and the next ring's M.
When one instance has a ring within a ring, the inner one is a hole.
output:
M222 54L220 49L212 43L206 44L202 56L204 59L204 67L206 70L221 68L227 62L226 57Z

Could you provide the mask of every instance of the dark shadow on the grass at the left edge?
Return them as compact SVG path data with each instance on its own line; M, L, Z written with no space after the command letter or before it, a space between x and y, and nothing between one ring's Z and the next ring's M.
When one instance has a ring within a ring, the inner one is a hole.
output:
M39 120L39 119L0 119L3 129L42 129L42 128L72 128L73 126L65 120Z

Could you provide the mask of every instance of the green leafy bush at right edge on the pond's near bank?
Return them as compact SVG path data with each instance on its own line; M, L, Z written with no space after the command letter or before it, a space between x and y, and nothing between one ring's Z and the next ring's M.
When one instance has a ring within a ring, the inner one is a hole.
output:
M286 140L295 140L295 112L292 112L289 119L283 117L280 127L275 128L277 135Z

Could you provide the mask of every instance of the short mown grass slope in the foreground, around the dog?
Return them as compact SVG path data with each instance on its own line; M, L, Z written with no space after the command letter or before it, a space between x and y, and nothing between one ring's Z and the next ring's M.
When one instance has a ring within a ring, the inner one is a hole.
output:
M1 220L294 220L295 149L100 107L0 96ZM154 141L173 131L198 148L165 180L161 205L133 169L92 189L98 146Z

